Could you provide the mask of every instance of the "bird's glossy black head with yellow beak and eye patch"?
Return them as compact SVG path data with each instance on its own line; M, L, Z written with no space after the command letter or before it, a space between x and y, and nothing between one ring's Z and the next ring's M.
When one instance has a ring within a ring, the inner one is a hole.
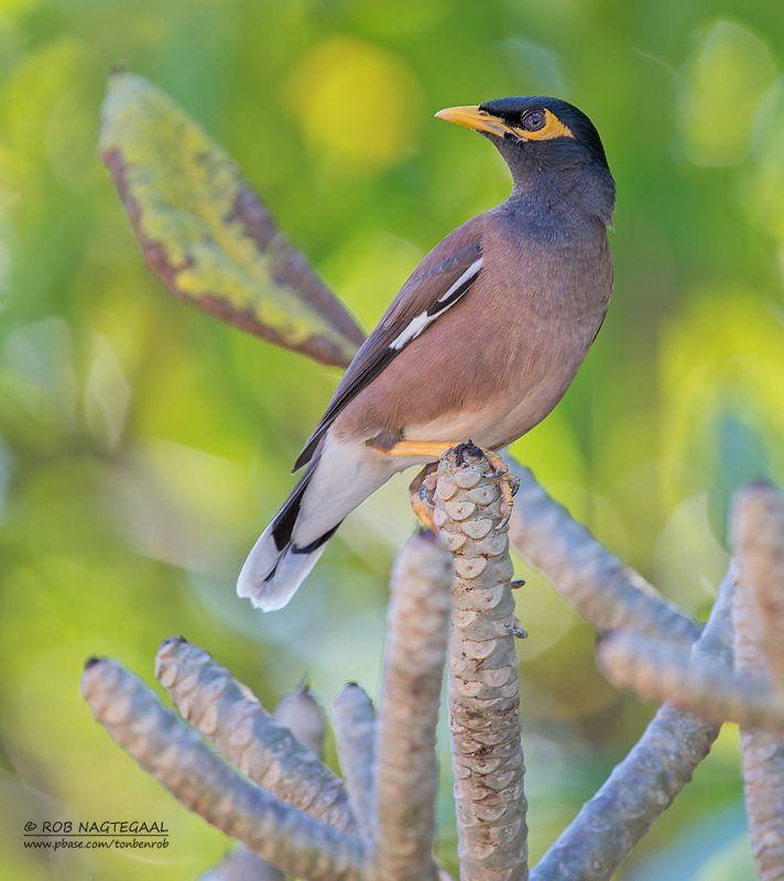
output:
M607 215L609 225L614 182L605 148L594 123L574 105L529 95L476 107L448 107L436 116L492 141L507 160L515 188L532 183L542 173L580 175L595 196L607 203L600 214Z

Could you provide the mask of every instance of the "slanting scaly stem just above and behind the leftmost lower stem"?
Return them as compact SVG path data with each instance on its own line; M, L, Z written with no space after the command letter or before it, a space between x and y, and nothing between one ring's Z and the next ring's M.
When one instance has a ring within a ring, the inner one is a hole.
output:
M314 817L356 830L338 777L207 652L166 640L155 657L155 675L183 716L252 781Z

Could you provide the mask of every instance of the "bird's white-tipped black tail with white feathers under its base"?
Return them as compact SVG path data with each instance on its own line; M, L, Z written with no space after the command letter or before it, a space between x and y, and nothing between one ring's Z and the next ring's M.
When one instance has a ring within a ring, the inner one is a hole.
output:
M364 444L327 438L317 459L253 545L237 592L263 611L283 608L324 553L342 519L396 470Z

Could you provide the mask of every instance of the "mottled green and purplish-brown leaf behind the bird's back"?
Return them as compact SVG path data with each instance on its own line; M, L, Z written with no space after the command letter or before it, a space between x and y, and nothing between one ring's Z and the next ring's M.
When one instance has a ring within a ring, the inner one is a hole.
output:
M363 336L237 164L140 76L115 74L100 150L146 263L177 297L271 342L347 365Z

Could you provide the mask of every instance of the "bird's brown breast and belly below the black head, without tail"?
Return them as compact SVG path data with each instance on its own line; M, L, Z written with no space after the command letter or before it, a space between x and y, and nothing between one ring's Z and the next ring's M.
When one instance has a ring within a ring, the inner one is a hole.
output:
M331 428L337 437L361 437L381 449L401 439L470 437L499 449L558 403L607 312L612 287L607 230L594 217L555 240L532 235L532 224L521 221L515 207L504 203L469 220L425 258L380 326L399 324L401 301L405 318L421 312L427 289L444 286L443 274L457 276L465 268L466 260L455 265L454 254L472 254L477 242L493 272L480 272L438 318L437 346L434 324L346 405ZM406 298L413 286L421 289L422 302ZM395 393L401 388L405 396Z

